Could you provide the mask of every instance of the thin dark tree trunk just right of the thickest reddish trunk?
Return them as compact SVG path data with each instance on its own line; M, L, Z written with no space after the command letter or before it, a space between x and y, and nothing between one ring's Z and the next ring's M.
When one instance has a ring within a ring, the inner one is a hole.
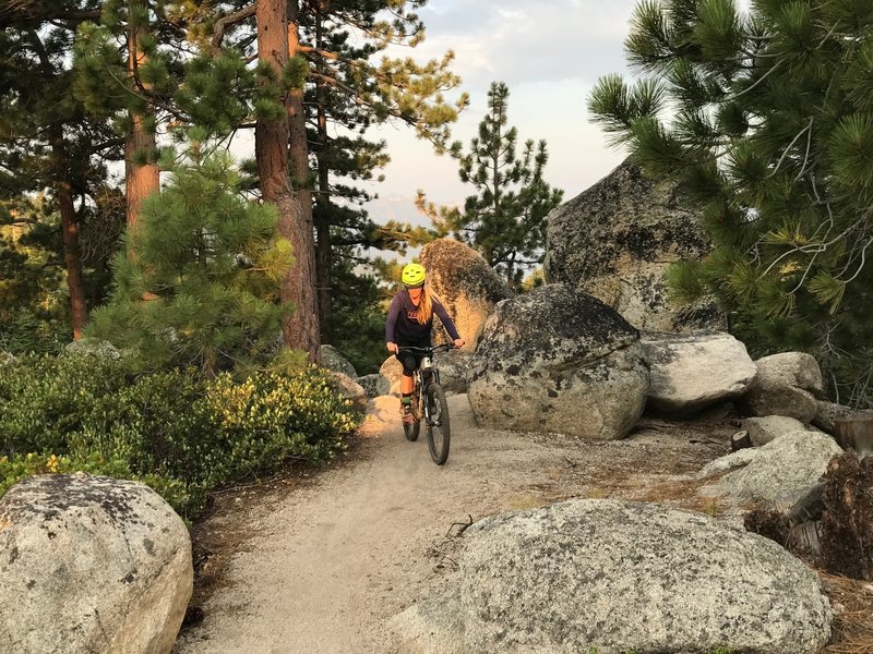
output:
M322 47L322 15L315 17L315 47ZM321 64L320 64L321 65ZM315 272L319 280L319 322L323 325L331 317L333 304L333 289L331 280L331 185L330 170L325 155L327 154L327 89L324 82L316 82L315 97L318 101L319 120L319 195L314 214L315 220Z

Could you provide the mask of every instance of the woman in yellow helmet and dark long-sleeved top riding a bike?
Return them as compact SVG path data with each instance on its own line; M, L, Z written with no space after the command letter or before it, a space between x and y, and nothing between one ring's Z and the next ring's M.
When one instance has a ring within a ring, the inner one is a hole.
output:
M408 264L404 266L400 280L404 290L398 292L391 301L388 318L385 323L385 344L388 352L394 352L397 360L403 364L403 376L400 377L400 412L403 422L411 423L415 421L412 415L412 390L415 382L412 374L421 363L423 354L398 351L398 348L428 348L431 346L430 332L433 327L433 314L440 316L440 320L452 337L456 348L464 346L464 339L458 336L455 324L445 311L442 302L424 284L427 274L424 267L419 264Z

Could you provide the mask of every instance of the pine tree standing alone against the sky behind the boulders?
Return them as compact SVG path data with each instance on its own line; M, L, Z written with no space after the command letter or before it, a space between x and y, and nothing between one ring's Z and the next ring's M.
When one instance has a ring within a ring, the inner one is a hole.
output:
M518 131L507 126L510 89L492 82L488 113L479 123L479 135L469 153L459 157L461 181L471 184L476 195L458 207L436 208L418 192L417 205L441 234L477 250L510 287L518 287L525 271L539 263L546 245L546 216L561 203L563 191L542 178L549 159L546 142L525 142L516 157Z

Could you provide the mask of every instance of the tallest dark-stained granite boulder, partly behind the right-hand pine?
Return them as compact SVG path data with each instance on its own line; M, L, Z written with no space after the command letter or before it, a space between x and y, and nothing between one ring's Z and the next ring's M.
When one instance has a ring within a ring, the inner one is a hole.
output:
M638 329L723 329L713 301L677 308L663 282L668 264L709 250L701 216L675 186L625 160L549 214L546 279L578 284Z

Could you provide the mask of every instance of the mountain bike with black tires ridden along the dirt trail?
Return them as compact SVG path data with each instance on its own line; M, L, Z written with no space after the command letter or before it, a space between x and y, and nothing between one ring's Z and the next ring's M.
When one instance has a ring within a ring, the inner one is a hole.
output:
M430 458L436 465L442 465L449 459L449 443L451 437L449 422L449 403L445 391L440 386L440 371L433 363L436 352L454 349L452 344L432 348L400 347L398 353L410 352L423 354L421 363L414 374L415 390L412 391L412 415L415 421L404 423L403 431L408 440L416 440L421 429L421 421L428 428L428 449Z

